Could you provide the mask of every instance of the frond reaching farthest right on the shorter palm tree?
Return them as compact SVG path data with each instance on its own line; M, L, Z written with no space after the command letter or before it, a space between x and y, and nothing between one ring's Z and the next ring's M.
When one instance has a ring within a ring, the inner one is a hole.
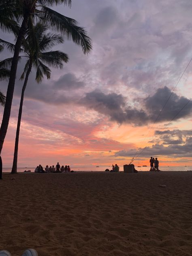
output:
M41 54L41 60L53 68L62 68L68 62L68 55L62 51L49 51Z

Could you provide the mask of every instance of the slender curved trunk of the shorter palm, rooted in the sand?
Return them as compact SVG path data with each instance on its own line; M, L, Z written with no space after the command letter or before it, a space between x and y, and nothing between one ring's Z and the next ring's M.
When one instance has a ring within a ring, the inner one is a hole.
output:
M13 166L11 173L17 173L17 156L18 156L18 145L19 145L19 131L20 131L20 125L21 125L21 115L22 115L22 109L23 109L23 98L24 98L24 92L26 90L28 77L32 69L32 61L29 63L29 68L26 73L26 78L23 83L23 88L21 92L21 100L20 100L20 106L19 106L19 114L18 114L18 120L17 120L17 131L16 131L16 137L15 137L15 150L14 150L14 157L13 157Z

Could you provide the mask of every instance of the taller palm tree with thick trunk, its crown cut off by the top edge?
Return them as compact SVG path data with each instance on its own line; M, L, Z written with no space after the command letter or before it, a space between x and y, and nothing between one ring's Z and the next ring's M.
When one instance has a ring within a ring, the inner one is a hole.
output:
M19 51L23 38L29 29L28 24L32 26L35 19L42 20L50 29L60 31L66 39L80 45L84 54L89 53L92 49L91 39L84 28L77 26L75 19L66 17L49 8L58 4L71 6L71 0L0 0L0 28L16 34L16 24L21 23L15 43L6 103L0 127L0 154L9 125Z

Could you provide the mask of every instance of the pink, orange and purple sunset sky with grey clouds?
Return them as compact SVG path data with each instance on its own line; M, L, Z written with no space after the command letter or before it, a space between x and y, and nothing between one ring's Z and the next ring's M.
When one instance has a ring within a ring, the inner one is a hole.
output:
M134 156L135 165L149 165L151 156L160 166L192 165L191 0L72 0L70 9L54 9L87 30L93 50L84 55L65 41L53 48L69 55L62 70L52 68L41 84L30 74L18 166L122 166ZM0 53L1 60L9 56ZM17 70L4 167L13 163L24 64ZM5 94L7 83L0 82Z

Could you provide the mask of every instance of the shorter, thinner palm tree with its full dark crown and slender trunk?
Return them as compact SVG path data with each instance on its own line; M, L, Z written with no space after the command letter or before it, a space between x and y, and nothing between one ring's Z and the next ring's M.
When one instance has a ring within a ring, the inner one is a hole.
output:
M24 56L27 58L27 61L24 67L24 71L21 75L21 79L24 79L24 83L21 92L13 167L11 173L17 173L19 131L21 124L23 98L32 67L36 69L36 82L41 83L44 75L47 77L47 79L49 79L51 76L51 70L48 66L54 68L62 68L63 62L68 62L68 55L66 53L63 53L62 51L46 51L51 49L51 47L56 44L63 43L64 40L62 36L52 33L46 34L47 28L43 26L42 23L37 23L34 27L31 28L31 30L32 31L28 31L28 36L23 40L21 48L21 51L23 51ZM8 48L11 49L10 43L4 41L4 45L7 45ZM12 45L12 48L14 48L14 45Z

